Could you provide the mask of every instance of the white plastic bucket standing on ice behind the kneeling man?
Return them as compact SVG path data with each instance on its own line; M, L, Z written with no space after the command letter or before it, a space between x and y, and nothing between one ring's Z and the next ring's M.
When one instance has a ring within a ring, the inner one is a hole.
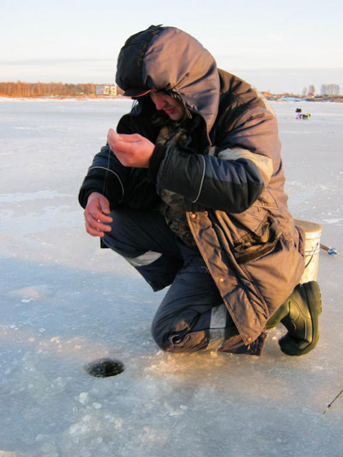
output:
M305 232L305 271L300 278L300 283L316 281L319 269L322 225L316 222L300 221L299 219L294 219L294 222Z

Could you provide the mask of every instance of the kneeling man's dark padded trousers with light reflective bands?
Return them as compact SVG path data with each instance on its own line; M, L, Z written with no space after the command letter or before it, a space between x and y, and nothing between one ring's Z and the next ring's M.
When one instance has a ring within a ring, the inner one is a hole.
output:
M170 285L152 322L167 351L230 351L237 329L196 247L185 246L158 212L116 208L104 243L123 256L158 291ZM228 341L230 341L228 347Z

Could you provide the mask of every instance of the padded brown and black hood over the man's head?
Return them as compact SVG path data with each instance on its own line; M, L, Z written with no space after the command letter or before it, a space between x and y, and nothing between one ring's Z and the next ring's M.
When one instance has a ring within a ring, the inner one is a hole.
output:
M170 92L198 112L210 132L218 112L220 77L211 53L175 27L151 25L126 40L117 63L117 85L138 97L150 89Z

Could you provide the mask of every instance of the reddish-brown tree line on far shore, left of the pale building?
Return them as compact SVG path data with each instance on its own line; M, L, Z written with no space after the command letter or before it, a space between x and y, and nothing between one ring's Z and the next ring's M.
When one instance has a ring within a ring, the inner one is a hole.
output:
M44 95L95 95L95 84L62 84L62 82L0 82L0 95L40 97Z

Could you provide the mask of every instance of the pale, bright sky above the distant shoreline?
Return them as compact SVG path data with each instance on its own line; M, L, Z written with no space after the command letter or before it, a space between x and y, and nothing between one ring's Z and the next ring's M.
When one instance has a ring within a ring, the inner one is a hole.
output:
M178 27L259 90L343 86L340 0L1 1L0 82L115 82L128 36Z

